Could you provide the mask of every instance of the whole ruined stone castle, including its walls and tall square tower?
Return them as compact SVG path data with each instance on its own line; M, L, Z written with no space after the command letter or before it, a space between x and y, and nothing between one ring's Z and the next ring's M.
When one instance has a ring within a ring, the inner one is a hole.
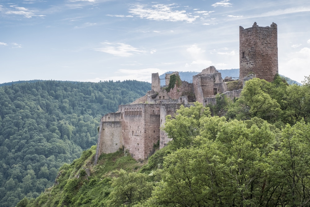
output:
M277 25L258 27L255 22L252 28L240 27L240 79L249 79L250 73L250 78L272 81L277 72ZM161 86L158 73L153 73L151 91L101 118L95 164L102 153L116 152L122 146L135 160L146 159L154 144L159 141L162 148L170 141L161 130L166 115L173 116L181 105L195 101L214 103L216 94L233 99L241 93L241 89L228 91L214 66L194 75L193 83L182 81L178 72L166 74L165 82L166 86Z

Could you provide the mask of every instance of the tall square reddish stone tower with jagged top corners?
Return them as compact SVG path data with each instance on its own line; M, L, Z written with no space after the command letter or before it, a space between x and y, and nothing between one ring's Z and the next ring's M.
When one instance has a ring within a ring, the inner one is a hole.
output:
M257 78L273 81L278 73L277 24L259 27L256 22L250 28L239 27L240 77L249 73Z

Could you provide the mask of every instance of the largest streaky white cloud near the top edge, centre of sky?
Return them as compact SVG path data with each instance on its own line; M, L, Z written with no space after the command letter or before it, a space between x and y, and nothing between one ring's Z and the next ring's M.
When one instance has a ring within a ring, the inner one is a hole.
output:
M173 5L174 4L156 4L148 8L146 5L135 4L133 8L129 9L129 13L139 16L141 19L157 21L193 22L196 20L195 17L187 14L186 11L173 10Z

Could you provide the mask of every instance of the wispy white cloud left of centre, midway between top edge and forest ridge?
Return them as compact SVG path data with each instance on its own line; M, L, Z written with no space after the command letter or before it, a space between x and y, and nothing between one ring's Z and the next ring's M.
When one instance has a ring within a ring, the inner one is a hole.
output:
M103 45L103 47L93 48L93 50L99 51L99 52L106 52L106 53L109 53L115 56L121 56L121 57L129 57L134 54L146 53L145 50L132 47L131 45L126 44L126 43L112 44L109 42L104 42L101 44Z

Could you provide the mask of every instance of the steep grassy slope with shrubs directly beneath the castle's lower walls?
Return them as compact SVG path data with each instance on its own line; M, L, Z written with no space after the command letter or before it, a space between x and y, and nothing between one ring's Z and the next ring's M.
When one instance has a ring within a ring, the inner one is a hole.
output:
M127 172L149 174L161 168L163 157L171 153L170 147L166 146L141 163L120 149L115 153L102 154L98 164L94 166L92 163L95 151L96 147L92 146L72 164L64 164L56 178L57 184L46 189L38 198L24 199L17 206L106 206L114 170L124 169ZM91 170L89 177L85 169Z

